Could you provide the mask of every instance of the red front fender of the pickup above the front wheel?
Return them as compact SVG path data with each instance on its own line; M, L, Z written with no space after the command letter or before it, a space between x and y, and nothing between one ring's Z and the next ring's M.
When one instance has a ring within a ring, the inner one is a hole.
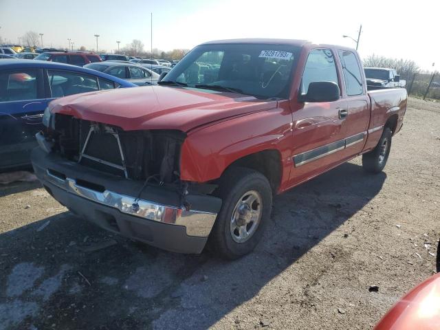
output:
M287 161L292 155L291 123L292 114L277 108L190 133L181 148L181 180L217 179L237 159L259 151L277 150L282 162Z

